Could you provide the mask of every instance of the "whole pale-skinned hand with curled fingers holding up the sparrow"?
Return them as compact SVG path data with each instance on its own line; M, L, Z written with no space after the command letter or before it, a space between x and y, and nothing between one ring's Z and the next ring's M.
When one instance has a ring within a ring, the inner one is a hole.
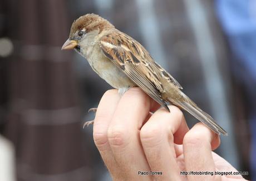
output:
M120 96L116 89L101 98L93 139L113 180L244 180L240 175L181 175L181 171L237 171L212 152L219 135L197 123L189 130L181 110L170 113L140 88ZM155 112L154 114L150 112ZM162 172L138 175L138 172Z

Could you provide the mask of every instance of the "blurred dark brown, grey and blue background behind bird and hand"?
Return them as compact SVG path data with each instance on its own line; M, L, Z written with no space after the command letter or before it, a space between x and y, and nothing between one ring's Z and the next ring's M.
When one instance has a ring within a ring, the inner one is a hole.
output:
M256 180L255 0L0 0L1 181L111 180L82 129L111 87L61 51L86 13L144 45L228 131L216 152Z

